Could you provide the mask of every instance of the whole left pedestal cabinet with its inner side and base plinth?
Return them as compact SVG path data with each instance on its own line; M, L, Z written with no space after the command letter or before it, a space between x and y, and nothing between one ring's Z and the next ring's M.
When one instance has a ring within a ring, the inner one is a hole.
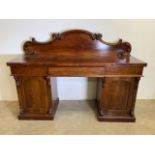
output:
M19 119L53 119L58 104L55 79L16 76L15 80L20 103Z

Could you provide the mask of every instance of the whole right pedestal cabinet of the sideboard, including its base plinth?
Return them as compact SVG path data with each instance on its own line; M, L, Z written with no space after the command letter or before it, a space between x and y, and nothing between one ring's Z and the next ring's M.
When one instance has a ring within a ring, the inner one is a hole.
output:
M108 77L98 80L98 119L135 121L134 106L138 77Z

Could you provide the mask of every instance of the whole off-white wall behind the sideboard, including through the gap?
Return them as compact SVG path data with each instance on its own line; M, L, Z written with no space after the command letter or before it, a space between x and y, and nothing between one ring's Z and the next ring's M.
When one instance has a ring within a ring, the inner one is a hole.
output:
M23 41L46 41L51 32L86 29L103 34L105 41L123 38L132 44L132 55L148 62L140 81L139 99L155 98L155 20L0 20L0 100L17 100L14 80L6 62L22 54ZM58 78L61 100L93 99L96 80Z

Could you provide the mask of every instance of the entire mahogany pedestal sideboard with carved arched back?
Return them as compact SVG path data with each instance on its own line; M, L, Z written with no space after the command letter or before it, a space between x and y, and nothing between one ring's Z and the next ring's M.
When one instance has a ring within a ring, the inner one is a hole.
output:
M99 121L134 122L138 83L147 64L130 55L130 43L101 38L100 33L69 30L53 33L48 42L25 42L24 55L7 63L16 81L19 119L54 119L56 77L67 76L97 78Z

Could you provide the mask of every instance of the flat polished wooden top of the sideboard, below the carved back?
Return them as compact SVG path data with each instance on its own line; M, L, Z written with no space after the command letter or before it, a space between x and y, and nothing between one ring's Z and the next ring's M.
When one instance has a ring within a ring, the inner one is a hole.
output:
M89 58L50 58L50 59L43 59L43 58L27 58L24 55L18 56L16 59L7 63L9 66L12 65L47 65L47 66L105 66L105 65L142 65L146 66L147 64L135 57L130 56L128 62L126 61L119 61L119 62L112 62L110 60L106 60L102 57L89 59Z

